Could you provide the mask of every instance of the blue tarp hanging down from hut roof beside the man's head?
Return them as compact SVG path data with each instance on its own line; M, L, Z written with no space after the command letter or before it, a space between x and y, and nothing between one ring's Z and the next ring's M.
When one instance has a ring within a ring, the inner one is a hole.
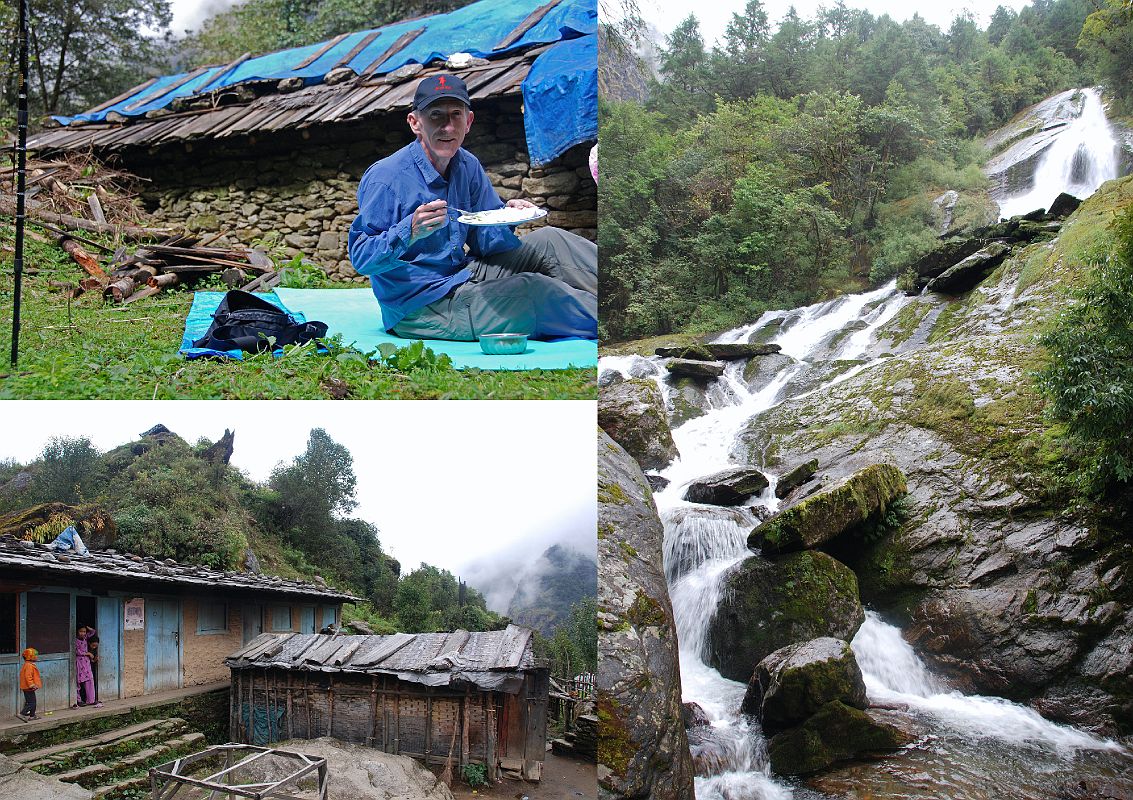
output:
M542 53L523 80L523 127L533 164L598 138L598 37L571 39Z

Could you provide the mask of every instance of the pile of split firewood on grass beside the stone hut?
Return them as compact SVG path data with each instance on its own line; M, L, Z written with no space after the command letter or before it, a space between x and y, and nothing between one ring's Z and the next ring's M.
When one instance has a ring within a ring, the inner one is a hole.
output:
M168 287L193 283L210 273L219 273L229 289L246 291L271 289L280 282L272 259L262 250L242 246L208 247L220 235L208 239L190 235L171 236L155 245L143 245L133 254L127 254L125 247L118 247L103 269L97 258L83 249L83 244L110 253L109 248L73 233L60 233L60 247L90 275L77 287L60 287L68 288L73 296L102 291L107 299L133 303Z

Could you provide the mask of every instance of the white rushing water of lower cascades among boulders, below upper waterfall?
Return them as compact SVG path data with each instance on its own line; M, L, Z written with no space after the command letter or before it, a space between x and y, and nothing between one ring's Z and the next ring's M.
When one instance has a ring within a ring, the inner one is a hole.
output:
M769 325L778 325L770 341L780 344L790 360L755 391L743 380L743 363L730 364L708 393L709 410L673 431L680 458L663 470L670 484L654 497L665 527L665 569L680 641L682 696L685 701L698 704L710 721L707 737L700 735L692 744L695 755L708 754L698 761L699 772L705 773L696 778L698 800L798 800L803 794L815 795L770 774L758 724L739 712L747 687L722 676L707 663L707 633L719 603L723 578L743 560L758 558L748 550L747 536L757 522L758 510L777 509L776 476L767 475L770 486L750 499L747 508L698 505L683 500L684 492L692 480L734 466L731 453L738 434L749 420L786 397L800 397L808 391L792 391L792 380L802 372L835 359L863 359L852 372L876 363L872 359L878 355L874 352L878 329L909 301L889 283L876 291L794 312L765 314L751 325L721 335L718 341L749 341ZM671 395L661 359L604 358L600 369L651 378L662 388L666 401ZM843 372L823 385L845 377L847 374ZM876 614L868 615L853 648L872 700L908 707L943 727L968 737L991 737L1013 746L1043 747L1066 754L1116 747L1055 725L1023 706L949 691L928 673L900 631Z

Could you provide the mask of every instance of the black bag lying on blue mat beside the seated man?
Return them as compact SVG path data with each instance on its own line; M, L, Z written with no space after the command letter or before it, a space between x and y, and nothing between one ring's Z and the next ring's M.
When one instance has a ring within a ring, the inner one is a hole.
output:
M303 344L326 335L326 323L298 322L282 308L255 295L233 289L224 295L208 331L193 347L258 352L284 344Z

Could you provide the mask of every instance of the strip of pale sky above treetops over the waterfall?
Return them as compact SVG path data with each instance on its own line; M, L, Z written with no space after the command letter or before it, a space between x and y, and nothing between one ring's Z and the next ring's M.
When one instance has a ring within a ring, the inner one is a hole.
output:
M657 26L663 33L671 32L689 14L696 14L700 22L700 33L705 42L712 45L717 39L723 39L724 28L733 14L742 14L747 0L717 0L716 2L693 2L693 0L639 0L641 15ZM764 8L770 19L772 28L791 6L794 6L800 17L812 19L819 6L833 6L833 0L764 0ZM996 6L1007 6L1016 11L1030 6L1030 0L847 0L850 8L863 8L876 17L888 14L898 22L909 19L914 14L929 23L947 31L957 14L971 11L980 27L986 27ZM664 44L664 42L659 42Z

